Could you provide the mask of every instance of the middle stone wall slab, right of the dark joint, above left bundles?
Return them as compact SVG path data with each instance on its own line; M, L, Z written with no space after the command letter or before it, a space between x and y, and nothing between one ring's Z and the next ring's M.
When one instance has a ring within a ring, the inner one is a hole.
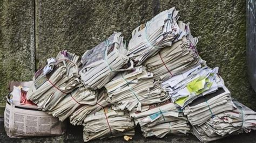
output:
M129 39L133 28L154 16L153 1L37 1L36 6L38 66L62 49L82 56L114 31Z

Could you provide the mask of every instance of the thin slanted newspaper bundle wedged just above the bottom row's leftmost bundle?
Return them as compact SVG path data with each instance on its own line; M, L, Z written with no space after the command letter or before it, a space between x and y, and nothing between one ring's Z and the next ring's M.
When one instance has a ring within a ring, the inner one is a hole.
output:
M75 112L70 116L70 123L73 125L82 125L84 119L87 115L93 114L105 106L111 104L109 96L107 96L107 92L105 89L99 91L99 95L97 96L97 101L95 104L83 104L80 105L79 108L76 109Z

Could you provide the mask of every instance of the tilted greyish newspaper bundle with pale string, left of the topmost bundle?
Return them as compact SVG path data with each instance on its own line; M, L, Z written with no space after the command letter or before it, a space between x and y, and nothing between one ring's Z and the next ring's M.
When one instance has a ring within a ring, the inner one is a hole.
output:
M100 89L117 73L125 70L133 63L128 61L126 46L121 33L114 32L109 38L96 47L86 51L82 56L80 77L86 87ZM123 69L121 69L123 68Z

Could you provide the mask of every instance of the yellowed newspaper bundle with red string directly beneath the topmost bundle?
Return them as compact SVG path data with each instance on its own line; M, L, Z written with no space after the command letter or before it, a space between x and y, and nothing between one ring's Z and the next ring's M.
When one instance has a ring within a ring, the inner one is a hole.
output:
M188 24L178 22L182 31L172 46L166 46L158 54L147 59L143 65L154 74L156 80L167 80L177 74L200 65L196 45L198 38L190 34Z

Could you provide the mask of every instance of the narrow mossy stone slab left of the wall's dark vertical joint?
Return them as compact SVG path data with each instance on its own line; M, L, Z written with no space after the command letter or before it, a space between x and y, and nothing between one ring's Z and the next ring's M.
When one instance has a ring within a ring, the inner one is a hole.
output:
M28 81L35 71L32 1L0 1L0 103L10 81Z

